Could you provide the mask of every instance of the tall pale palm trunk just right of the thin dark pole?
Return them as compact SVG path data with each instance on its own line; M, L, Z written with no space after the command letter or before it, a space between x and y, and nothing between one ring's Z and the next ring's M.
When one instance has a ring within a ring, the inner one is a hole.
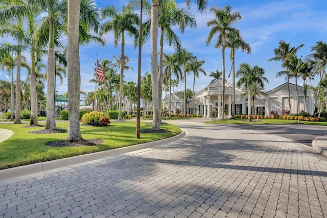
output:
M151 82L152 82L152 104L153 104L153 122L152 129L160 129L160 116L159 110L159 83L158 83L158 0L152 0L151 7Z

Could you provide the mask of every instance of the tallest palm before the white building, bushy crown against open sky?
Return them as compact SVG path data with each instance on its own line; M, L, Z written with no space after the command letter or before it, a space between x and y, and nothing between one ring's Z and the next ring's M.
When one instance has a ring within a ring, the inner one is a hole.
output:
M213 36L218 34L217 42L215 44L216 48L222 47L222 89L221 89L221 102L224 105L224 95L225 95L225 48L228 45L228 39L233 38L237 35L238 31L231 25L241 19L240 12L231 13L231 7L226 6L225 9L211 8L210 12L213 12L215 19L209 20L206 24L208 27L213 27L206 40L206 45L208 45ZM223 113L223 111L222 111ZM224 118L224 116L222 115Z

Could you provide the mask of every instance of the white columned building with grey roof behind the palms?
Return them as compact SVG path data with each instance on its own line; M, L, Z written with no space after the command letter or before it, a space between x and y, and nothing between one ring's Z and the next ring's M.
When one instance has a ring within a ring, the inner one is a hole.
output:
M292 113L297 113L297 97L296 97L296 89L295 85L290 83L290 102ZM242 97L241 94L245 92L243 88L235 87L235 108L233 111L230 110L232 104L232 84L225 82L225 95L224 95L224 104L222 104L221 98L221 79L216 80L215 82L209 84L204 87L200 91L198 91L195 95L194 99L194 111L195 114L203 115L203 117L210 117L211 111L214 107L217 108L218 118L220 117L220 112L224 108L227 111L225 117L231 118L232 114L247 114L248 110L248 99L247 97ZM297 86L298 94L299 94L299 103L300 108L299 111L305 110L309 113L312 113L313 105L314 105L314 91L308 89L307 90L307 98L306 98L306 107L304 105L304 91L302 86ZM267 96L261 95L255 96L254 98L254 115L270 115L272 110L278 112L278 114L283 114L283 109L289 110L289 102L288 102L288 85L284 83L270 91L267 91ZM164 108L169 109L169 95L167 95L162 100L162 106ZM220 107L218 107L220 105ZM178 94L172 93L171 98L171 110L175 112L176 108L183 110L183 99L180 99ZM253 107L251 102L251 108ZM187 113L192 113L192 99L188 100L188 108ZM252 110L252 109L251 109Z

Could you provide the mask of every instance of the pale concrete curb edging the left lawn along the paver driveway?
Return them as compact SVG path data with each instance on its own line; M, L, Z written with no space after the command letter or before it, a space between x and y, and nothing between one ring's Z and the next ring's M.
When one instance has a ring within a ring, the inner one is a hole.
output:
M70 166L70 165L79 164L87 161L111 157L114 155L134 152L142 149L148 149L148 148L156 149L156 147L160 146L161 144L169 143L171 141L175 141L184 137L185 134L186 133L182 131L180 134L176 136L161 139L158 141L151 141L151 142L136 144L134 146L124 147L119 149L112 149L108 151L96 152L96 153L68 157L58 160L34 163L25 166L17 166L8 169L2 169L0 170L0 182L3 180L9 180L20 176L26 176L26 175L42 173L42 172L44 173L45 171L50 171L51 169L55 169L55 168Z

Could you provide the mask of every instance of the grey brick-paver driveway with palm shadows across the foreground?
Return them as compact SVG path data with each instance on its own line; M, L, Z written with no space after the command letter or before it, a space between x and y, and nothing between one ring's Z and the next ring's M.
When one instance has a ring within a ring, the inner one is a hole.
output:
M185 137L0 186L3 217L327 217L327 164L250 130L177 121Z

